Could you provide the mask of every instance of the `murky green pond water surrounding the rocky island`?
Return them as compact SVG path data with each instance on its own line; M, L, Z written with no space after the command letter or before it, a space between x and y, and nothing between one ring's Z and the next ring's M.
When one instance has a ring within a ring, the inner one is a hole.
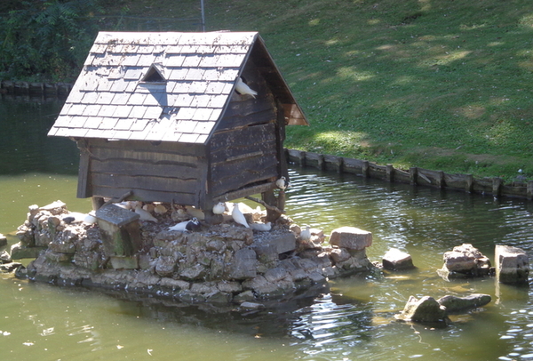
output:
M28 205L76 199L78 151L46 132L61 100L0 100L0 233L9 243ZM287 213L329 234L341 226L373 234L370 261L391 247L411 254L409 272L331 280L320 293L258 312L29 283L0 274L0 349L5 360L527 360L533 306L527 287L493 278L446 282L442 253L471 243L533 251L533 204L293 167ZM255 206L255 205L254 205ZM25 261L28 262L28 261ZM446 327L394 321L410 295L489 293L482 309Z

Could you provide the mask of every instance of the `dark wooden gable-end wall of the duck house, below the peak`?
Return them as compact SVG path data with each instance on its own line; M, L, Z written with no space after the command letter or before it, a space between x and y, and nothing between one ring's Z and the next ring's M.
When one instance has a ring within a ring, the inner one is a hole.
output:
M210 140L211 197L275 180L280 153L276 148L277 108L259 73L244 72L256 99L235 94Z

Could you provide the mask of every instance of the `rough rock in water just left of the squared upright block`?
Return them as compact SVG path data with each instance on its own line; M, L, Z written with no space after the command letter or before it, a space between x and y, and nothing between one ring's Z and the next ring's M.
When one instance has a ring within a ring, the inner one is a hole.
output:
M463 244L446 252L442 256L444 265L438 270L441 277L483 277L490 272L489 258L470 244Z

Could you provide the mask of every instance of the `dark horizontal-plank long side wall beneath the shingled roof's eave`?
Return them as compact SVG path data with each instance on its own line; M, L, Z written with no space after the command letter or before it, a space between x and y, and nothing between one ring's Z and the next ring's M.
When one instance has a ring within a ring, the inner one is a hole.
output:
M78 197L121 197L128 191L145 202L203 202L207 159L203 146L139 140L86 140Z

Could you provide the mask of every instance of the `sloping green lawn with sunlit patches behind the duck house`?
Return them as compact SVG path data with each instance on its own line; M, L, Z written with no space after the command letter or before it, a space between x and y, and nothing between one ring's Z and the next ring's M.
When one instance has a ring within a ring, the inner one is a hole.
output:
M128 6L199 14L199 1ZM529 0L207 1L206 18L208 30L265 39L311 124L288 127L288 148L533 178Z

